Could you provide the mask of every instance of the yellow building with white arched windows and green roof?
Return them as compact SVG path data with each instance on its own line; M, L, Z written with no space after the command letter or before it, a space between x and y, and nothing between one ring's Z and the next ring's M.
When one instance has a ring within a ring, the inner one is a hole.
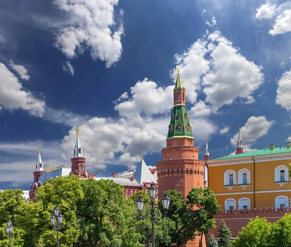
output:
M243 153L239 134L236 153L206 161L209 187L221 209L291 207L290 142Z

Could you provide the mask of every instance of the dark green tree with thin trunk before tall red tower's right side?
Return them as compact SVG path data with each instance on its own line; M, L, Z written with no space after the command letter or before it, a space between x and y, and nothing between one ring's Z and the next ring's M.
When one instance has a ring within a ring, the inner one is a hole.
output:
M186 197L181 215L185 237L193 240L195 236L200 236L202 247L203 234L208 233L209 229L216 228L214 215L219 209L220 206L210 187L192 188Z

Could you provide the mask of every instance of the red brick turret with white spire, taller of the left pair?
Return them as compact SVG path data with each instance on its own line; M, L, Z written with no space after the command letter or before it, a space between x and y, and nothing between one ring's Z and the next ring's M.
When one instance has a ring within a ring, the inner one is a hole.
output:
M77 133L77 139L76 139L76 144L74 148L74 157L71 158L71 173L76 176L79 176L80 178L92 178L92 173L87 173L85 169L85 162L86 159L82 155L82 149L81 149L81 144L79 140L79 129L76 129Z

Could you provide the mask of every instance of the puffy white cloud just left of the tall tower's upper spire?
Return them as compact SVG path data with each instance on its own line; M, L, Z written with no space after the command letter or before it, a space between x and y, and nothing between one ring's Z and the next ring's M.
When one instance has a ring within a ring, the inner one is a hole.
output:
M155 82L145 78L130 88L129 100L117 104L114 109L121 117L127 118L136 118L142 113L147 116L168 113L173 107L173 89L174 86L158 87ZM122 95L126 97L127 94Z

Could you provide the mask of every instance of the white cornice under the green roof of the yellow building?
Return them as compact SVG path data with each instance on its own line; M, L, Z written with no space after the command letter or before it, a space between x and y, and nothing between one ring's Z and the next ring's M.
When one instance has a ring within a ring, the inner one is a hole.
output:
M255 159L256 162L291 159L291 155L269 157L270 155L274 155L274 154L255 156L254 159ZM261 158L258 158L258 157L261 157ZM239 159L239 158L246 158L246 159ZM231 159L231 160L226 161L228 159ZM234 160L234 159L239 159L239 160ZM207 162L208 163L208 166L222 166L222 165L246 164L246 163L253 163L254 162L252 156L237 157L237 158L226 158L226 159L218 159L218 160L217 160L217 162L213 162L213 163L211 163L211 161L216 161L216 159L209 160Z

